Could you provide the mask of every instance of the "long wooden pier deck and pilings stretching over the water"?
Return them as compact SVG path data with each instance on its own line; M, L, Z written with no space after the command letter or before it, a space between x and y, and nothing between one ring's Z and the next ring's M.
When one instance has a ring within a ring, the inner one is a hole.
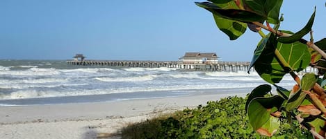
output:
M190 71L247 71L250 62L214 62L214 63L184 63L180 61L117 61L117 60L72 60L67 64L76 66L122 66L144 68L179 68Z

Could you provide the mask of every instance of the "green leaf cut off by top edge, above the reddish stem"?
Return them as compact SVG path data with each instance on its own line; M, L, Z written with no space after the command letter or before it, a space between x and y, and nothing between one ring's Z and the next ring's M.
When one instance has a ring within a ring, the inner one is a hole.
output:
M271 24L279 24L279 10L283 0L244 0L245 8L267 17Z

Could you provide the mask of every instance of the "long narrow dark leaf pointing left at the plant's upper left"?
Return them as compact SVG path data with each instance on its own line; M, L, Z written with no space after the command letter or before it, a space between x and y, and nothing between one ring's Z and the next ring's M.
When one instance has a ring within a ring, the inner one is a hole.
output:
M254 12L250 12L247 10L239 10L239 9L222 9L219 6L216 6L213 3L209 2L195 2L197 6L209 10L213 13L213 15L218 15L225 19L231 19L241 22L254 22L254 21L264 21L267 17L263 15L258 15Z

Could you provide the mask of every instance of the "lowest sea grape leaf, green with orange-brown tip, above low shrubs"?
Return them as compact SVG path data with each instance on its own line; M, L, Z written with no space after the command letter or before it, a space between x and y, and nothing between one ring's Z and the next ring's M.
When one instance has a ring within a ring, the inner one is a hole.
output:
M279 127L279 120L275 120L270 113L282 105L284 99L278 95L270 98L254 98L248 105L248 118L255 131L263 133L266 136L272 136L272 133Z

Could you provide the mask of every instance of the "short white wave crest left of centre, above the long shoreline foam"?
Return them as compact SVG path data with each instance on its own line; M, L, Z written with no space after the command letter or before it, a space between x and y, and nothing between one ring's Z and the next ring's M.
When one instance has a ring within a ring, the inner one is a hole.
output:
M138 77L95 77L101 82L144 82L154 80L156 75L143 75Z

